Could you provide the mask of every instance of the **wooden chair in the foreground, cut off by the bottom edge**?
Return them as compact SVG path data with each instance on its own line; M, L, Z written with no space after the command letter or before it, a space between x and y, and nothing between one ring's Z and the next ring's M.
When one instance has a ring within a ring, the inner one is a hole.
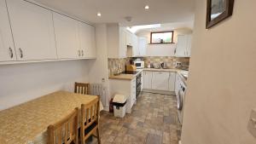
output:
M48 144L78 144L78 124L79 124L79 107L75 108L73 112L67 117L61 119L55 124L48 127ZM65 133L65 134L64 134Z

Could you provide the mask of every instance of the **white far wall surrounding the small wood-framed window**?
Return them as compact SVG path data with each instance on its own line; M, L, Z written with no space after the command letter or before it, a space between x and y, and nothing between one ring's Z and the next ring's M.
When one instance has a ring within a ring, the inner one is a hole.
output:
M146 49L147 56L174 56L174 50L176 49L177 35L179 34L191 34L192 30L189 28L180 28L174 30L173 43L170 44L148 44ZM142 31L137 33L138 37L146 37L147 43L150 43L150 32Z

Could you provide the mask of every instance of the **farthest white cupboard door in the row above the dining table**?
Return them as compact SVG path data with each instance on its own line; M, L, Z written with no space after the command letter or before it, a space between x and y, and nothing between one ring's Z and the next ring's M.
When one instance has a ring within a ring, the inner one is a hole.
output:
M79 26L79 57L96 58L95 26L78 21Z

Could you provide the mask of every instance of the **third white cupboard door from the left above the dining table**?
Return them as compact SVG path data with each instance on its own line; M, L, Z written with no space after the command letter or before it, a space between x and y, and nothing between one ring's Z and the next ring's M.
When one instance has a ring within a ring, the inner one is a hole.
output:
M79 52L78 21L62 14L53 14L55 39L59 59L75 59Z

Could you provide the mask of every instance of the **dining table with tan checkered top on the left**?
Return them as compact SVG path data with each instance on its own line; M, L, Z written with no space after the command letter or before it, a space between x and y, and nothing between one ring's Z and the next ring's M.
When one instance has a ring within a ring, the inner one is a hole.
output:
M0 111L1 144L46 144L49 124L55 124L75 107L80 109L81 104L95 99L96 95L57 91Z

